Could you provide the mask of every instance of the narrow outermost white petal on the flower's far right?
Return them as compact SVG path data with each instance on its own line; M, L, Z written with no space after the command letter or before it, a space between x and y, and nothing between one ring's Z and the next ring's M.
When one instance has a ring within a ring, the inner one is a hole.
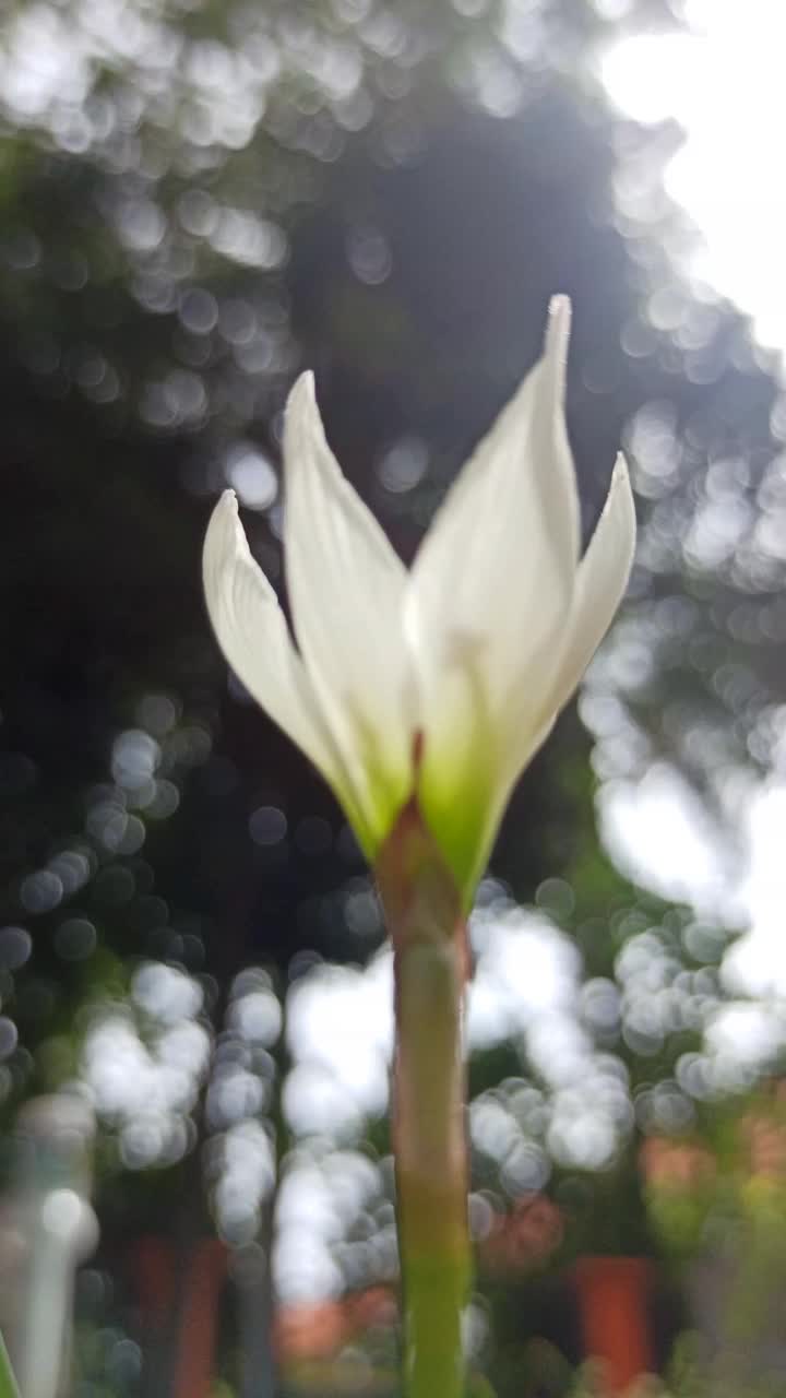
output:
M589 548L579 563L571 633L557 682L561 709L603 640L628 586L636 542L636 512L625 457L620 453Z

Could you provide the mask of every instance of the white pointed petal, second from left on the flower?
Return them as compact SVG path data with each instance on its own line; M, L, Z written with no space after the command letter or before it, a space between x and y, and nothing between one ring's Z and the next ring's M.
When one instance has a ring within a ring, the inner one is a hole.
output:
M380 840L413 784L407 573L324 440L310 373L301 375L287 404L284 467L284 558L298 646Z

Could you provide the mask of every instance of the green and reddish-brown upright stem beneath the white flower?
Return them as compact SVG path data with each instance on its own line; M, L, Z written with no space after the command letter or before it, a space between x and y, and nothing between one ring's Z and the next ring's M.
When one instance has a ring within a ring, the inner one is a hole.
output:
M470 1282L462 1002L464 925L449 871L408 808L376 868L393 937L393 1148L407 1398L464 1398Z

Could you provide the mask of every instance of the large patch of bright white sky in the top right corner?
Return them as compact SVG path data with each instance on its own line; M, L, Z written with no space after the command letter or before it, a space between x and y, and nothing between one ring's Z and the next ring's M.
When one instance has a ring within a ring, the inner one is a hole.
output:
M786 4L685 0L684 14L688 34L615 43L603 82L635 120L683 126L666 189L705 240L685 270L751 315L761 344L786 351Z

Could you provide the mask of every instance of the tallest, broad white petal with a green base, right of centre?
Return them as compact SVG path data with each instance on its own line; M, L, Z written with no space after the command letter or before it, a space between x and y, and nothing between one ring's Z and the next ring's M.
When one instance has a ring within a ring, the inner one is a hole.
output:
M544 358L450 489L407 593L424 726L418 791L462 882L512 781L508 716L526 689L531 713L517 721L536 741L571 615L579 500L562 408L568 334L569 303L555 298Z

